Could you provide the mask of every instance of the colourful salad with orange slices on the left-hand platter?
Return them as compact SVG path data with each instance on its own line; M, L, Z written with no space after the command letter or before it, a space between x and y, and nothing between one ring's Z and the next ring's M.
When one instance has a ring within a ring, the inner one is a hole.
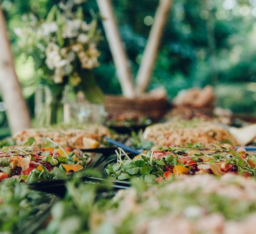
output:
M0 181L16 178L21 182L39 182L64 178L84 169L92 158L80 149L62 148L51 139L44 147L4 146L0 148Z

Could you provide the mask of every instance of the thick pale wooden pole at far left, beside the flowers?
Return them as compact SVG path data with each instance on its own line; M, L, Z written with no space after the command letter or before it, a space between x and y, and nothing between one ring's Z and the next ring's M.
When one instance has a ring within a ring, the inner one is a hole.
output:
M28 109L21 94L14 69L11 47L7 38L5 19L0 7L0 91L6 104L6 114L12 134L31 126Z

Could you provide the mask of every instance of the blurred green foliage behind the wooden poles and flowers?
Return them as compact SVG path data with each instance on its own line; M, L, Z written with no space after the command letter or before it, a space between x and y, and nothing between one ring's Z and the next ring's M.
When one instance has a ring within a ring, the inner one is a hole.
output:
M58 0L2 0L17 75L33 116L37 76L33 59L17 46L13 32L22 17L45 17ZM112 0L120 33L136 74L158 0ZM95 0L87 0L84 14L98 13ZM90 11L88 11L90 9ZM235 113L256 113L256 0L175 0L167 22L150 89L164 86L171 98L178 91L211 84L216 105ZM101 22L99 26L102 28ZM102 28L104 35L104 31ZM120 94L111 53L104 35L99 45L101 65L94 70L106 94ZM1 100L0 100L1 101ZM0 108L0 136L8 135Z

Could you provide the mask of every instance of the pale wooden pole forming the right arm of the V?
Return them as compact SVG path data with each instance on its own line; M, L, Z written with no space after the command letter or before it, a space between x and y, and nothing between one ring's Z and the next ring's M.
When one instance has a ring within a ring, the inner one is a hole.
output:
M163 29L168 20L172 0L160 0L154 18L154 23L149 33L149 38L143 53L143 59L136 77L136 94L143 93L149 85L150 77L155 67L155 60Z

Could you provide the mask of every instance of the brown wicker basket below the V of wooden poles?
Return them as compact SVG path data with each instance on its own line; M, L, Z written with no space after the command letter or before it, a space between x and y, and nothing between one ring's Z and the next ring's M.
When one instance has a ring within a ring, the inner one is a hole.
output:
M166 112L167 99L142 96L139 98L125 98L124 96L105 96L105 109L108 113L135 113L141 117L159 119Z

